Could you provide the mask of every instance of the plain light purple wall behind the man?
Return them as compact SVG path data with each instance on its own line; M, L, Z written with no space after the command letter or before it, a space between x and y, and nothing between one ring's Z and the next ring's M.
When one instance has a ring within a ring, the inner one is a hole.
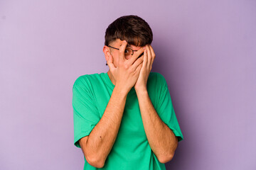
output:
M256 169L256 1L0 1L0 169L82 169L72 87L107 26L144 18L183 132L166 169Z

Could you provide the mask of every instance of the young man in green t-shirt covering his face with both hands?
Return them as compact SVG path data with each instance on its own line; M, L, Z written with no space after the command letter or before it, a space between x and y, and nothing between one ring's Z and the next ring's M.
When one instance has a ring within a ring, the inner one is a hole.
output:
M76 79L74 144L84 169L165 169L183 140L166 80L151 72L152 40L139 16L117 18L103 47L110 70Z

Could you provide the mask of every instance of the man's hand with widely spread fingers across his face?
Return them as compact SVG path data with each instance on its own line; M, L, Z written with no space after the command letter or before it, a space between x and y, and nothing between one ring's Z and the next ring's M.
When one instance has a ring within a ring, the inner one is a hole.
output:
M134 55L127 60L124 57L124 50L127 46L127 42L124 40L122 45L119 48L119 62L118 66L114 67L112 56L107 60L107 65L110 67L110 72L115 79L115 86L118 86L127 93L132 89L136 83L139 72L142 69L144 56L139 57L139 55L144 52L144 48L140 48L137 52L134 52ZM137 60L137 58L139 59Z

